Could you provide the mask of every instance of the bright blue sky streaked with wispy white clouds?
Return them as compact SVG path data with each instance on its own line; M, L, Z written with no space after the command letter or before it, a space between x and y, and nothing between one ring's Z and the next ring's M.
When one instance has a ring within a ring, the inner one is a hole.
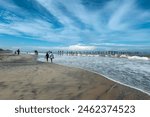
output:
M0 48L150 51L150 0L0 0Z

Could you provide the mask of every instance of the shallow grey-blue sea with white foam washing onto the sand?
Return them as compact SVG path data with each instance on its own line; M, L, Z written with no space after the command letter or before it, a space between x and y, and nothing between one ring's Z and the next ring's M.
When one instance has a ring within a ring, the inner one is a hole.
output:
M147 57L54 56L56 64L85 69L150 95L150 59ZM44 57L45 53L39 53L38 60L46 62Z

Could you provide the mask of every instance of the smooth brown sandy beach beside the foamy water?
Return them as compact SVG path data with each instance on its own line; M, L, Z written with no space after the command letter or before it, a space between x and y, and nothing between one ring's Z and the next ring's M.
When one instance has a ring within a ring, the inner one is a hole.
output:
M0 99L141 100L150 96L86 70L0 55Z

